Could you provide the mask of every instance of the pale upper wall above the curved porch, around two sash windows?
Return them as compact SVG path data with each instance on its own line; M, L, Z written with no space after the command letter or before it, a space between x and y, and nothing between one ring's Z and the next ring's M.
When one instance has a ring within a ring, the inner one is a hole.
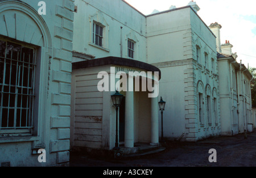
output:
M73 50L96 58L127 57L127 39L135 42L135 60L146 62L146 18L123 1L75 1ZM92 41L93 22L104 26L103 46Z

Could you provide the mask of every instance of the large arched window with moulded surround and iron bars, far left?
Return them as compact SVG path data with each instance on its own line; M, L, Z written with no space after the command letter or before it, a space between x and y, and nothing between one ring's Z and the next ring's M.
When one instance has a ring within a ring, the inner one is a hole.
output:
M51 34L22 1L0 1L0 27L0 135L43 135Z

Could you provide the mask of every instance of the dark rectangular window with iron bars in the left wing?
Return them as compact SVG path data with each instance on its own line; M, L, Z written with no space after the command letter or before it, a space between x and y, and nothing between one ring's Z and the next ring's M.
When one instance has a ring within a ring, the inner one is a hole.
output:
M32 133L35 49L0 39L0 133Z

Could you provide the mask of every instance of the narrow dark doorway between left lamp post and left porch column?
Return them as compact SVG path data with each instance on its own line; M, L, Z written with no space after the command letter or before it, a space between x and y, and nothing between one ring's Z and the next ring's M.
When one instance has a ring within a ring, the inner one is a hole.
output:
M119 142L125 141L125 96L119 108Z

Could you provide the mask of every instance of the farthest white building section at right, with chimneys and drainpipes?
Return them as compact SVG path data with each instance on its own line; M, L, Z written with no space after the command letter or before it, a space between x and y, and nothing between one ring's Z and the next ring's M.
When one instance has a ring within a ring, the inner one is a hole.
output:
M251 132L252 75L241 61L237 62L238 56L232 53L233 45L228 40L225 44L220 44L221 25L212 23L209 28L216 35L218 52L221 134Z

